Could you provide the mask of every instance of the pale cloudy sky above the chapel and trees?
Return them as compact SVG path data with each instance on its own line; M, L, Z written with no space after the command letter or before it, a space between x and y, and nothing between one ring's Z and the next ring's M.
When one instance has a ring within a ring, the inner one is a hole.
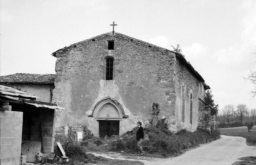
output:
M60 48L115 31L182 53L222 109L256 108L255 0L0 0L0 75L55 74Z

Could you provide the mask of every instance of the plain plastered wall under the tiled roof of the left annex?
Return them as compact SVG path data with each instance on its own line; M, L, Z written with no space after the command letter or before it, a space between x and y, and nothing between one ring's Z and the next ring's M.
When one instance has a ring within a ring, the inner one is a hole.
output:
M37 99L38 101L51 102L54 84L11 84L11 86L40 97L41 99Z

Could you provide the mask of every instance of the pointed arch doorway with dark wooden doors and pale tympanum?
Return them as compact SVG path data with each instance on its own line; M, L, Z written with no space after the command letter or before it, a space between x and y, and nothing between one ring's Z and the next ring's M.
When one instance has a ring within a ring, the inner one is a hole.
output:
M124 115L120 103L110 98L99 101L94 110L94 135L102 138L122 134L122 118Z

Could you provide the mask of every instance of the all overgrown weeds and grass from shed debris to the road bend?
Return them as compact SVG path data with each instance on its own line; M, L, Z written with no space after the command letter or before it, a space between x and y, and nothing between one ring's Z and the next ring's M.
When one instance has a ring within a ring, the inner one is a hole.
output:
M86 151L104 151L104 152L121 152L126 154L137 153L136 131L134 128L126 132L120 137L112 139L101 139L92 137L92 139L84 139L82 142L72 142L71 136L56 135L56 141L60 141L63 145L66 155L71 158L69 162L64 164L94 163L94 164L142 164L141 162L112 160L103 157L96 157L92 154L86 154ZM155 126L146 126L144 128L144 141L142 142L143 150L151 155L177 156L183 151L196 147L220 138L220 132L216 129L209 133L205 129L198 128L195 132L180 130L173 133L168 129L165 119L159 120ZM55 153L61 156L59 147L55 146Z

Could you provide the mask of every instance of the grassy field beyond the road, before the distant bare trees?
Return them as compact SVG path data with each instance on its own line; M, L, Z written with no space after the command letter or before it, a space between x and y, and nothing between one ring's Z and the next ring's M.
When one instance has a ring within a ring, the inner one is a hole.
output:
M240 136L246 139L246 144L249 146L256 146L256 127L254 126L251 129L251 132L248 132L247 127L237 127L237 128L228 128L228 129L219 129L221 135L226 136Z

